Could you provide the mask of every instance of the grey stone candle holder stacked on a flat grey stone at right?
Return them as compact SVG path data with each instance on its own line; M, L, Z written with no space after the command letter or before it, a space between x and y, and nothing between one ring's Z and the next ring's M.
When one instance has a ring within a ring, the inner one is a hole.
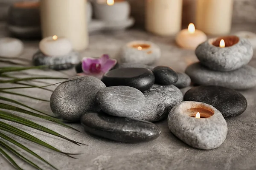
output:
M195 49L199 61L211 70L233 71L247 65L253 57L253 47L246 39L239 38L238 43L225 48L212 45L213 41L207 40Z

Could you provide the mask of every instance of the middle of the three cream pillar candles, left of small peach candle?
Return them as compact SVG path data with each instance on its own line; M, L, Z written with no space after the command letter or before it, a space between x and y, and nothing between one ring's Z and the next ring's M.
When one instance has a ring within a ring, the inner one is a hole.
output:
M174 35L181 28L182 0L147 0L146 30L161 36Z

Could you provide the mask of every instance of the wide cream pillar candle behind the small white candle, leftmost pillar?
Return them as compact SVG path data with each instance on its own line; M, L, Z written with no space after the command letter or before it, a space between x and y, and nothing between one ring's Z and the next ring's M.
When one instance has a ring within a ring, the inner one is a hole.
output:
M41 0L42 36L57 35L70 40L74 50L88 45L87 0Z

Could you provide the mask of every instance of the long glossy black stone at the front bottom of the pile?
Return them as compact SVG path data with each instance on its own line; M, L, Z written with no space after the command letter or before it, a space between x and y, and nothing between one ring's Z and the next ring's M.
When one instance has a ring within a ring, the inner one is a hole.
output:
M151 122L89 112L81 117L84 130L118 142L148 142L160 136L161 130Z

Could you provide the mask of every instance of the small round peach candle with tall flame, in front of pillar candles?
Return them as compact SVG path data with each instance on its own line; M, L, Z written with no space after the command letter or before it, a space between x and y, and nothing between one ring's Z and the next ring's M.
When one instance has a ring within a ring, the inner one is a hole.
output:
M188 29L181 30L175 40L180 47L194 50L199 44L207 40L207 36L204 32L195 29L193 23L190 23Z

